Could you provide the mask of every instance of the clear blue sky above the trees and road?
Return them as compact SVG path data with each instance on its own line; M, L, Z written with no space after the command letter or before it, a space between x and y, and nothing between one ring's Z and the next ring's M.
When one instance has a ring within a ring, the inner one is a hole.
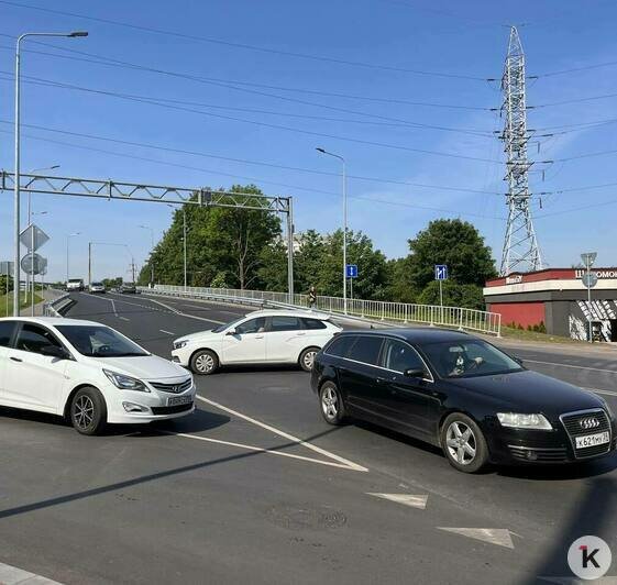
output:
M429 221L461 218L498 263L498 79L514 24L532 77L530 188L543 258L571 266L597 251L597 265L615 266L616 19L610 0L0 0L0 168L14 165L15 37L87 30L23 44L23 173L59 165L48 174L252 183L294 197L296 231L332 231L341 163L321 146L346 161L350 229L386 256L406 255ZM46 212L34 219L51 238L40 251L49 280L65 278L75 232L71 277L87 277L97 242L93 278L130 279L131 258L144 262L173 214L161 203L52 195L32 205ZM12 230L12 195L0 192L0 260L13 257Z

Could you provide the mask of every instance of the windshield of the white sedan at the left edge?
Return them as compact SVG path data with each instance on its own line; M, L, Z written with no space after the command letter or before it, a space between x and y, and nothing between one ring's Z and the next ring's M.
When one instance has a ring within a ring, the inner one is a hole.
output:
M150 355L137 344L104 325L57 325L57 330L82 355L136 357Z

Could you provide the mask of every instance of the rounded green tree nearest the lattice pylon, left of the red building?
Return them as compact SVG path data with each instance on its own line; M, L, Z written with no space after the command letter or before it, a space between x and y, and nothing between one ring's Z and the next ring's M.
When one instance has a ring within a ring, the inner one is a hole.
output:
M497 274L484 238L474 225L459 219L431 221L409 240L409 250L408 282L417 289L434 279L436 264L447 264L450 280L459 285L483 286Z

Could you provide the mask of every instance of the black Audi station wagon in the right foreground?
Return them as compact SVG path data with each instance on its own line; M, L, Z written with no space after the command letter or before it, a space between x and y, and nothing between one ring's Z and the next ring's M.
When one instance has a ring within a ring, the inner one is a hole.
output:
M586 461L616 448L603 398L461 332L343 332L316 356L311 386L330 424L350 416L387 427L440 446L462 472Z

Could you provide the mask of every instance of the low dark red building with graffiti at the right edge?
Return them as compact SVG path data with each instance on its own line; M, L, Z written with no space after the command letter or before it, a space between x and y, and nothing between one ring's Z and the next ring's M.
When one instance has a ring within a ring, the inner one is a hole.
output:
M617 268L593 268L598 277L592 302L583 285L584 269L548 268L493 278L484 288L488 311L502 314L502 324L540 325L547 333L588 338L591 314L594 338L617 342Z

